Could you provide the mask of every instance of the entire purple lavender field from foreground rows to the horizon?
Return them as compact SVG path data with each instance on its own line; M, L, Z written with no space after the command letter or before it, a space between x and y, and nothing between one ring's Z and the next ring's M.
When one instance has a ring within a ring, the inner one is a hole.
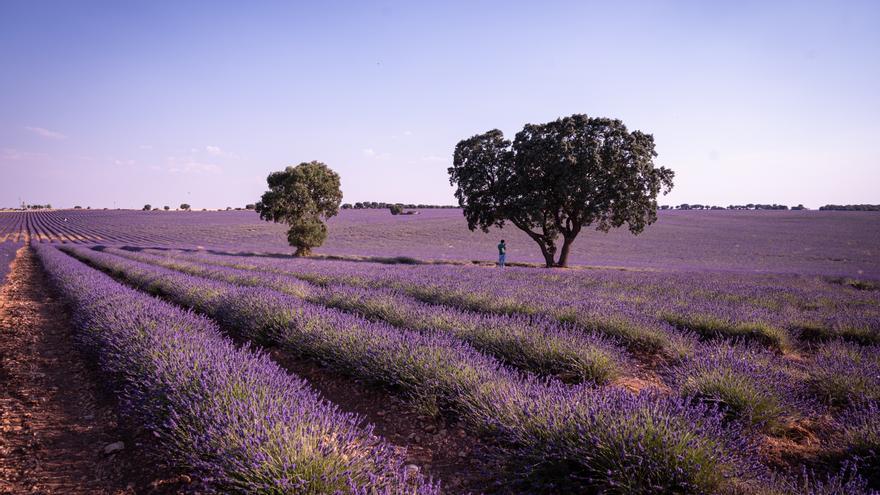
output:
M83 352L199 490L880 489L880 215L661 212L553 270L470 263L501 235L540 255L458 210L329 228L293 258L252 212L0 213L0 256L33 246ZM452 431L481 446L454 466Z

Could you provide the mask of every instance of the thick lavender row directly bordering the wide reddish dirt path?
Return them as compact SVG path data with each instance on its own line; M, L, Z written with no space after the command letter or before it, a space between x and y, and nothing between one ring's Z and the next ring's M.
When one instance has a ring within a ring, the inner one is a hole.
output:
M77 341L123 409L206 489L238 493L437 493L407 476L371 427L324 402L209 320L37 246L73 308Z

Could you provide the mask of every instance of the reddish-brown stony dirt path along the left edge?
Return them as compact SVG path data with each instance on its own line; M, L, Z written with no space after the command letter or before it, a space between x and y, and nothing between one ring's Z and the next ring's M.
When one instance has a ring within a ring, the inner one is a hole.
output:
M0 290L0 494L184 491L188 478L153 460L147 434L120 421L100 383L22 248Z

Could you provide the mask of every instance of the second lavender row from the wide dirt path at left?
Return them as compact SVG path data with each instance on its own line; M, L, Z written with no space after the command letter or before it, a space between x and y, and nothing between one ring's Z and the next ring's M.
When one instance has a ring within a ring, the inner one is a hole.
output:
M723 411L654 393L535 380L446 335L377 325L277 291L236 288L104 253L73 252L210 314L247 338L319 357L402 389L422 405L448 408L474 431L496 438L514 458L527 464L540 460L533 469L556 475L561 470L569 483L580 479L626 493L734 487L785 493L768 491L771 486L785 490L786 482L760 479L767 471L746 461L753 437L724 426Z

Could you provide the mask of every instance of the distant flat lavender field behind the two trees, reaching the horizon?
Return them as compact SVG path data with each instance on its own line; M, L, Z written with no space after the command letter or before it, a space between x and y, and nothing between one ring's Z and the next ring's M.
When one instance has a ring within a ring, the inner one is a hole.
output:
M511 262L541 262L521 231L470 232L458 209L342 210L318 253L419 260L492 261L499 238ZM291 253L285 228L251 211L67 210L0 213L0 241L213 248ZM639 236L585 230L572 264L675 271L734 271L880 278L880 215L845 211L660 211Z

